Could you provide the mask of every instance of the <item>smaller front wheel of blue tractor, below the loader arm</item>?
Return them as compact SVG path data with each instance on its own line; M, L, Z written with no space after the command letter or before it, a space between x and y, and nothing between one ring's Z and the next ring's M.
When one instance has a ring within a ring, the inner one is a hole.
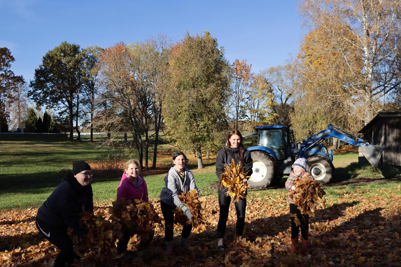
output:
M325 158L317 156L309 157L306 160L306 169L316 181L319 181L322 185L330 181L333 174L333 168L330 162Z

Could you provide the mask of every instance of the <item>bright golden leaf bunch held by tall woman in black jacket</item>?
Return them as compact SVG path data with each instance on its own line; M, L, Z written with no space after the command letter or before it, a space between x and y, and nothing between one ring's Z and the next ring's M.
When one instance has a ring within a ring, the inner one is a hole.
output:
M244 172L245 167L236 165L234 159L231 160L229 166L224 165L224 173L221 174L221 183L228 188L226 195L234 199L235 202L240 197L246 197L248 185L248 172Z

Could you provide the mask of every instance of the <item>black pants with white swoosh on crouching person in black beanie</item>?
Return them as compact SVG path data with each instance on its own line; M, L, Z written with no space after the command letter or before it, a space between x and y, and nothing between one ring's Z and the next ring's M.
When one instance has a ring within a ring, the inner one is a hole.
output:
M67 234L67 227L54 227L36 218L36 228L42 235L60 249L59 255L55 259L55 267L64 266L72 263L75 258L71 239Z

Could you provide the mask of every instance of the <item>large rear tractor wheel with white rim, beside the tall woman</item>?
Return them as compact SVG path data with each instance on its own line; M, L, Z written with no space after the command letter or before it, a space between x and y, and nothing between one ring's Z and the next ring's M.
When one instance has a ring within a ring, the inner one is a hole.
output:
M253 161L252 175L248 184L252 188L263 188L271 185L276 176L276 163L273 157L262 151L251 151Z

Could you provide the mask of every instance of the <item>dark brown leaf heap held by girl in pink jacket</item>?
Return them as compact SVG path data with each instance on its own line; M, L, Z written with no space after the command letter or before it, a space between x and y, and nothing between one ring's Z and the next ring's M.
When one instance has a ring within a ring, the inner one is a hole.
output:
M133 201L121 198L120 201L111 202L109 209L110 219L120 223L124 231L129 231L131 235L145 234L156 228L156 223L162 225L158 213L156 213L152 203L146 203L139 199Z

